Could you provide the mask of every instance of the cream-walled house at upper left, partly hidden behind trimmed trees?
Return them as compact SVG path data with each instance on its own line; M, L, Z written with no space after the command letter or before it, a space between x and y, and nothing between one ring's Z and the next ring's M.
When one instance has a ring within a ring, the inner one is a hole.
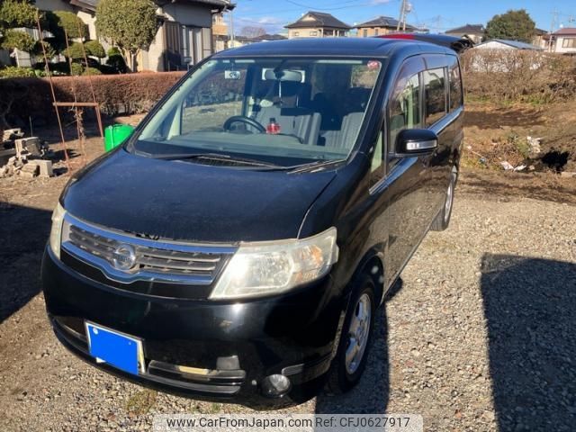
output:
M99 40L95 12L99 0L36 0L40 11L75 13L88 29L91 40ZM200 62L219 48L222 33L227 33L223 18L214 18L232 10L230 0L155 0L158 30L148 49L137 58L138 70L181 70ZM212 26L216 23L215 31ZM103 41L104 49L109 46ZM24 66L24 65L21 65Z

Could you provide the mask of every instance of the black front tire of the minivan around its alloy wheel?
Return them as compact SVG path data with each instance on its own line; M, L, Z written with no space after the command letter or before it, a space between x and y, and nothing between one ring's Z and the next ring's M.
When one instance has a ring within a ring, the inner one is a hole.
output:
M356 386L364 373L366 359L372 344L376 309L374 280L365 275L360 279L357 286L358 288L352 293L350 298L350 304L354 306L347 312L338 343L338 351L332 360L329 370L326 387L328 392L332 394L349 392ZM366 319L359 320L363 313L367 313L367 322ZM347 360L347 351L352 343L352 326L356 327L356 335L358 334L357 332L360 332L362 342L356 345L357 356L348 356Z

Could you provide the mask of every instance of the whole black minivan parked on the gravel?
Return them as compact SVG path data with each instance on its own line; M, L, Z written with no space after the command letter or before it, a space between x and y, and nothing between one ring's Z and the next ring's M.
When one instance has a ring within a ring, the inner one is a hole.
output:
M419 40L213 55L67 184L42 265L56 335L201 399L347 392L385 293L448 226L463 112L457 54Z

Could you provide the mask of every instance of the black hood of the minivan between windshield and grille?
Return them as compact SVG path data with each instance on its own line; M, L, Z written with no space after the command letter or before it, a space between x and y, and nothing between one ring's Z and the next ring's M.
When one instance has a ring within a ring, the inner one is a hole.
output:
M204 166L120 149L75 175L61 202L76 218L151 238L297 238L306 211L335 175Z

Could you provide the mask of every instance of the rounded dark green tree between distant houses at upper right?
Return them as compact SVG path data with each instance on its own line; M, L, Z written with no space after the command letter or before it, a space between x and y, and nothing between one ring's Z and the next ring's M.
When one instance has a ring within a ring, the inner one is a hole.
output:
M525 9L495 15L486 25L487 40L506 39L531 43L535 33L536 23Z

